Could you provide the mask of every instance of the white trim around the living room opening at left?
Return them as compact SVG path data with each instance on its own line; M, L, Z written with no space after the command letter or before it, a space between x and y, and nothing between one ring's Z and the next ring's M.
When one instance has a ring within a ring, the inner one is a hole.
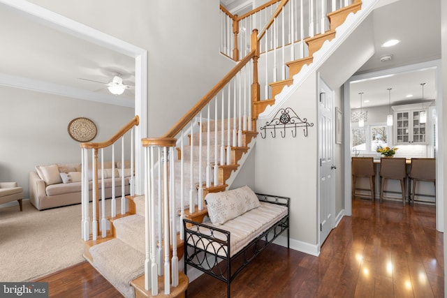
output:
M135 130L135 149L140 148L141 138L147 136L147 51L28 1L0 0L0 3L17 9L27 17L31 17L48 27L135 58L135 114L138 113L140 116L140 125ZM143 170L139 166L143 163L139 161L142 161L142 149L135 151L135 163L137 165L135 171L139 175L135 176L135 191L137 193L140 193L144 188L144 174L142 174Z

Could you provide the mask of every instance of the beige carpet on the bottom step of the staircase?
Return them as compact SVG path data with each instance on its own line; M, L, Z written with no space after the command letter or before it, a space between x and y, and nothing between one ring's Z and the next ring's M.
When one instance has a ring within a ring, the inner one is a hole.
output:
M92 246L94 267L124 295L134 297L130 283L144 273L145 255L119 239Z

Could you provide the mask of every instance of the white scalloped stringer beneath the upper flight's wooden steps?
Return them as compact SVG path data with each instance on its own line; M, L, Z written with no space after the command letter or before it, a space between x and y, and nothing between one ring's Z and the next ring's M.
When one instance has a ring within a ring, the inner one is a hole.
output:
M283 103L285 103L286 100L290 98L296 90L298 90L301 84L305 82L307 77L309 77L312 73L315 73L318 68L320 68L326 60L328 60L330 55L332 55L335 50L342 45L344 40L346 40L346 38L353 33L353 31L363 22L363 20L365 20L369 13L374 10L376 4L380 1L381 0L363 0L362 8L358 10L357 13L349 13L344 23L335 29L335 38L330 41L326 40L323 43L321 49L313 54L314 61L312 64L302 66L300 72L293 75L293 83L289 86L285 86L281 92L275 96L274 104L268 105L264 112L259 114L258 119L272 118L281 108Z

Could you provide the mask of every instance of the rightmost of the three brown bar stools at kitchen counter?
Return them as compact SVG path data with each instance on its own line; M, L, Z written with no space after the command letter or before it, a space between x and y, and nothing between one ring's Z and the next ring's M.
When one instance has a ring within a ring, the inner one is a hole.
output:
M412 184L411 195L409 195L411 206L414 204L416 192L416 181L432 181L434 183L436 201L436 159L435 158L411 158L411 170L409 179ZM409 187L410 188L410 187ZM425 202L425 201L420 201Z

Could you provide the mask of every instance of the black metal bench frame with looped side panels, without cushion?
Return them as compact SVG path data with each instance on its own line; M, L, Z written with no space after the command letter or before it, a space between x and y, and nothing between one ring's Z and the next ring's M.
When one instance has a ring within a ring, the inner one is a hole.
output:
M256 193L260 202L268 202L287 207L287 214L270 225L258 237L249 241L244 248L231 255L230 232L215 228L210 224L196 223L184 219L184 273L187 266L218 278L227 284L230 297L230 283L256 255L264 251L274 239L287 230L289 248L289 201L290 198ZM241 216L244 216L242 214Z

